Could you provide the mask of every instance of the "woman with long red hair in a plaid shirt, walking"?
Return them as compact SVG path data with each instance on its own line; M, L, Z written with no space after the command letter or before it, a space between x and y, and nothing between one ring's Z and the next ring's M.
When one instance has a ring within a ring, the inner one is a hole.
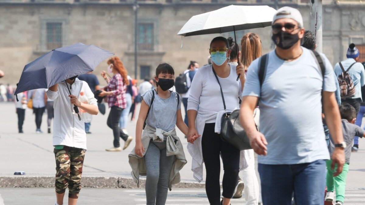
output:
M122 151L120 147L119 138L124 140L123 150L125 150L132 142L133 138L128 136L119 127L119 119L122 115L123 109L127 107L126 101L126 85L129 84L127 79L127 71L124 68L122 61L118 57L113 57L108 60L108 72L113 73L112 79L107 78L105 71L101 76L108 82L108 85L101 89L100 97L107 97L107 102L110 107L110 112L107 120L107 125L113 130L113 147L106 149L106 151Z

